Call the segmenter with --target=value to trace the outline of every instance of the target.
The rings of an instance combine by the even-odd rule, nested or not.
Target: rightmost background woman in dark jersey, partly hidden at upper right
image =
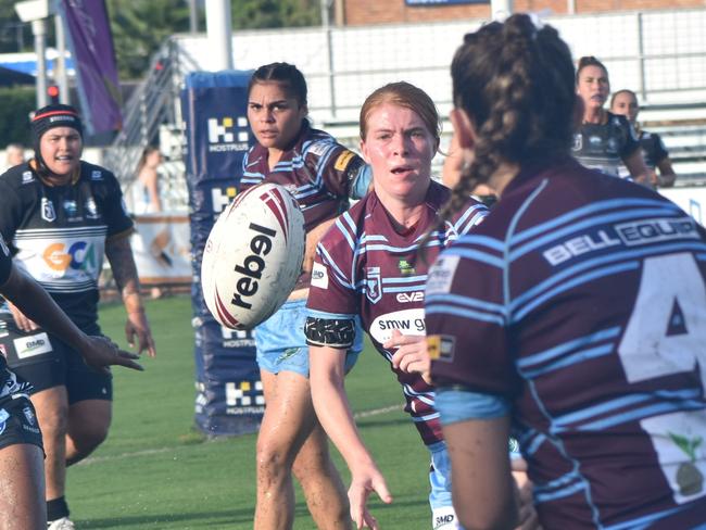
[[[647,132],[640,128],[638,114],[640,105],[638,96],[632,90],[618,90],[610,98],[610,112],[626,116],[638,134],[642,156],[647,167],[654,172],[653,184],[659,188],[670,188],[677,180],[677,175],[669,160],[669,152],[659,135]],[[659,174],[655,169],[659,169]]]

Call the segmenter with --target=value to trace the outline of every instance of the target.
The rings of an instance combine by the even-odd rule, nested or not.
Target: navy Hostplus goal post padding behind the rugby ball
[[[193,275],[196,424],[210,437],[254,432],[265,411],[252,332],[215,321],[200,282],[209,232],[238,192],[242,157],[250,147],[249,80],[250,72],[199,72],[187,76],[181,93]]]

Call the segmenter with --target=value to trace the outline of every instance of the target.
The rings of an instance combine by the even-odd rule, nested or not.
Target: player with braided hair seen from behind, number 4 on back
[[[706,522],[706,232],[654,191],[570,156],[567,45],[524,14],[468,34],[454,189],[500,195],[429,273],[426,317],[456,514],[513,528],[510,429],[543,528]]]

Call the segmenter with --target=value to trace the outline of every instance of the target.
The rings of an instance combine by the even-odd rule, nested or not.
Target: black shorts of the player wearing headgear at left
[[[85,400],[113,400],[113,378],[90,368],[84,357],[56,337],[39,328],[25,332],[12,320],[0,337],[8,365],[17,376],[34,387],[33,394],[54,387],[66,387],[68,403]],[[84,330],[100,335],[100,328]]]

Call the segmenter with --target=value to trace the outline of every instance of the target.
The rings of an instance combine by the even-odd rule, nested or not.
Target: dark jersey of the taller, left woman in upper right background
[[[605,124],[583,124],[573,135],[572,154],[581,164],[619,176],[620,164],[639,148],[638,135],[628,118],[606,112]]]

